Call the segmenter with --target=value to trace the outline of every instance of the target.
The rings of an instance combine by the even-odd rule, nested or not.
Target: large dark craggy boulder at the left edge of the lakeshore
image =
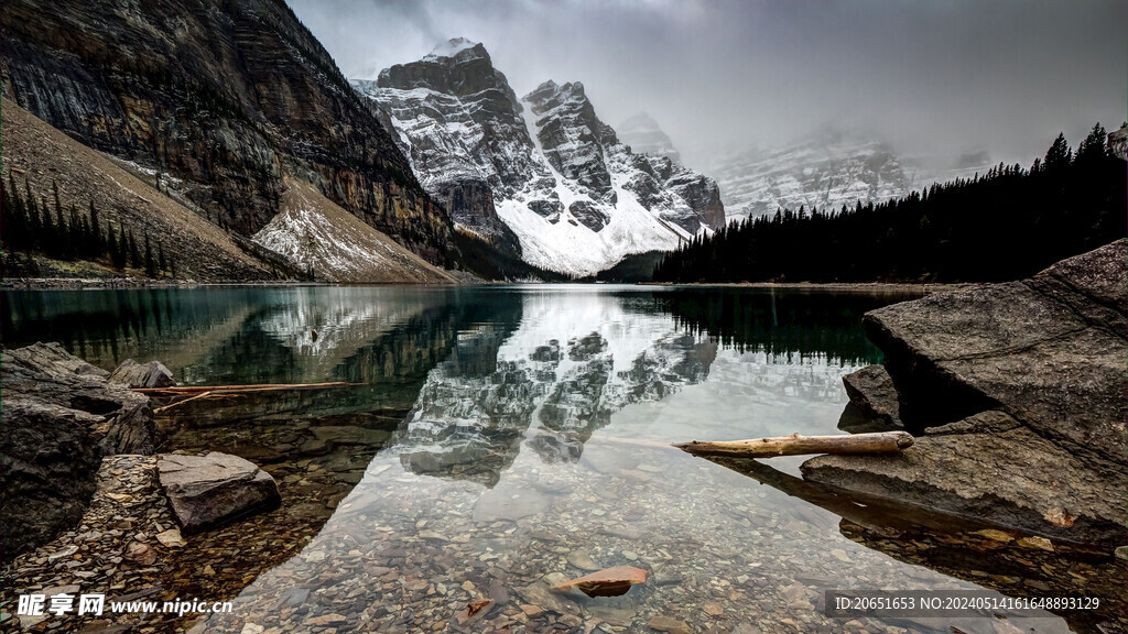
[[[0,539],[6,556],[50,541],[79,521],[103,456],[152,454],[159,443],[146,396],[58,343],[0,358]]]

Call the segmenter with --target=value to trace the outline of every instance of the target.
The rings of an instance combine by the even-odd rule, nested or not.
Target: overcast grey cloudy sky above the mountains
[[[1128,111],[1123,0],[288,0],[350,78],[485,44],[517,94],[583,81],[691,165],[834,125],[904,152],[1029,162]]]

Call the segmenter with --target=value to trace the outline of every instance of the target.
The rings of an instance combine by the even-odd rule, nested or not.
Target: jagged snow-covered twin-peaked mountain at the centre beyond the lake
[[[460,228],[536,266],[590,274],[724,222],[712,179],[619,142],[582,83],[518,99],[482,44],[451,39],[353,86]]]

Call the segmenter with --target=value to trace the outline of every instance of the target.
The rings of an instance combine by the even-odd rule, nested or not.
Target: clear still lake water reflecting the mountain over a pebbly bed
[[[902,299],[209,288],[6,292],[2,315],[6,345],[62,341],[105,368],[131,356],[201,385],[364,384],[197,402],[162,420],[166,449],[238,454],[280,481],[275,519],[227,527],[223,539],[302,534],[277,561],[221,570],[222,583],[193,578],[187,555],[169,564],[166,587],[238,593],[232,615],[202,622],[209,629],[649,632],[662,616],[698,632],[994,634],[1114,620],[1117,569],[1085,554],[828,499],[795,477],[802,458],[749,469],[668,447],[837,433],[841,376],[880,361],[861,316]],[[546,592],[614,565],[651,579],[620,598]],[[860,588],[1095,593],[1107,607],[1008,622],[822,615],[823,590]],[[457,613],[482,598],[496,604],[460,626]]]

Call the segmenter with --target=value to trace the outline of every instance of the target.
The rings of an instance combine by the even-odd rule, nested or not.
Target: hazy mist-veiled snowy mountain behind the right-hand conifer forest
[[[822,132],[776,149],[755,149],[711,167],[728,219],[756,218],[777,209],[838,210],[909,194],[936,182],[990,168],[986,153],[952,161],[899,157],[889,144],[856,133]]]

